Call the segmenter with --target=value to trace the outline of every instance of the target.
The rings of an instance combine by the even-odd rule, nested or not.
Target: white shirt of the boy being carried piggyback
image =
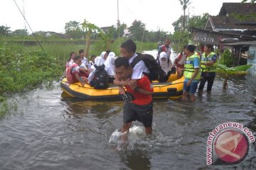
[[[129,64],[137,57],[135,53],[130,59]],[[132,69],[132,79],[142,79],[144,73],[149,73],[149,69],[146,67],[144,61],[140,60]]]

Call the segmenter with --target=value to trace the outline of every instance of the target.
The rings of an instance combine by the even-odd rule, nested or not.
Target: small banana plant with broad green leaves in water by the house
[[[227,67],[225,64],[219,64],[217,71],[225,74],[225,79],[223,82],[223,89],[228,89],[228,78],[231,74],[241,75],[246,74],[246,70],[249,69],[252,64],[240,65],[236,67]]]

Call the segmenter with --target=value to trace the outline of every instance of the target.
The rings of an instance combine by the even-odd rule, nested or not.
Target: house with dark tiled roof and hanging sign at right
[[[252,64],[256,75],[256,4],[223,3],[218,16],[209,16],[204,29],[191,28],[193,41],[230,48],[236,64]]]

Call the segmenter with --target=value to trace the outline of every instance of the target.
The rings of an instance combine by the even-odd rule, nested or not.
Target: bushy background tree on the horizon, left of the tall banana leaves
[[[68,38],[82,38],[84,32],[80,26],[81,24],[77,21],[69,21],[68,23],[65,23],[65,35],[67,35]]]

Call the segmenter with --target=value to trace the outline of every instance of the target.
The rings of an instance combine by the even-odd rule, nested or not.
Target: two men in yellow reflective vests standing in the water
[[[210,93],[217,71],[218,57],[213,52],[213,45],[204,45],[204,52],[201,55],[195,52],[195,50],[195,45],[187,45],[185,49],[186,61],[183,69],[183,75],[185,77],[183,84],[183,100],[186,100],[189,94],[191,101],[196,101],[196,90],[198,88],[199,95],[203,94],[206,81],[208,83],[206,91]]]

